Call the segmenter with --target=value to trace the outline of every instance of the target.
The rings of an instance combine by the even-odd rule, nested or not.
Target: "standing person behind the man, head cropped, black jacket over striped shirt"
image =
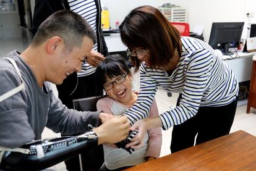
[[[58,10],[69,9],[87,20],[96,34],[96,43],[87,60],[82,63],[79,73],[71,74],[61,85],[57,85],[59,99],[69,109],[73,108],[73,99],[100,96],[103,88],[95,83],[95,69],[101,60],[108,56],[108,48],[101,30],[100,0],[36,0],[32,22],[32,33],[35,35],[40,24],[49,15]]]

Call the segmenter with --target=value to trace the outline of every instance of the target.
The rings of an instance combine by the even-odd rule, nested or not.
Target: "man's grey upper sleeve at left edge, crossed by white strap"
[[[19,86],[21,80],[14,69],[2,66],[0,68],[1,96]],[[26,112],[27,96],[25,90],[19,91],[0,102],[0,146],[17,148],[35,138],[35,134],[28,123]]]

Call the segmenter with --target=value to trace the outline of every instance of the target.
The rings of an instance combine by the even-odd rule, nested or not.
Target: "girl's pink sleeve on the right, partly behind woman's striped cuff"
[[[150,109],[149,117],[158,117],[158,108],[156,106],[156,101],[154,99],[153,104]],[[152,128],[148,130],[148,149],[145,157],[155,157],[159,158],[162,145],[162,130],[161,127]]]

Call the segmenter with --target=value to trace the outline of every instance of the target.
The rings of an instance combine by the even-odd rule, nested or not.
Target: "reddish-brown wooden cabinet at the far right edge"
[[[246,113],[250,113],[250,107],[256,108],[256,55],[252,58],[252,76],[250,78],[250,90],[247,102],[247,111]]]

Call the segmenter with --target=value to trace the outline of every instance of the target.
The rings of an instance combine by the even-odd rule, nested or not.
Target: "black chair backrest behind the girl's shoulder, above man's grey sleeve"
[[[90,98],[80,98],[80,99],[74,99],[73,105],[74,109],[77,111],[97,111],[96,104],[97,101],[101,98],[105,98],[107,95],[101,95],[101,96],[93,96]]]

